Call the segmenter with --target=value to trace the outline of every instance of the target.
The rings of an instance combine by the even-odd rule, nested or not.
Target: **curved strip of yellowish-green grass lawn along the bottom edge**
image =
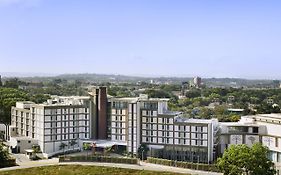
[[[62,166],[45,166],[36,168],[19,169],[12,171],[0,172],[0,175],[180,175],[177,173],[132,170],[123,168],[111,168],[100,166],[82,166],[82,165],[62,165]],[[182,174],[181,174],[182,175]]]

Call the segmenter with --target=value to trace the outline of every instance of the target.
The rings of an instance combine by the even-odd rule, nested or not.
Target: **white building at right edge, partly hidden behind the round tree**
[[[270,150],[270,159],[281,167],[281,114],[242,116],[239,122],[221,123],[220,152],[231,144],[251,146],[260,142]]]

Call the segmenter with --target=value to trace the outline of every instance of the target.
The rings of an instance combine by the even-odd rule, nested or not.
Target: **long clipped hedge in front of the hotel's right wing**
[[[213,171],[219,172],[218,168],[214,164],[202,164],[202,163],[192,163],[192,162],[183,162],[183,161],[174,161],[168,159],[159,159],[159,158],[152,158],[148,157],[148,163],[160,164],[160,165],[167,165],[167,166],[175,166],[179,168],[188,168],[194,170],[203,170],[203,171]]]

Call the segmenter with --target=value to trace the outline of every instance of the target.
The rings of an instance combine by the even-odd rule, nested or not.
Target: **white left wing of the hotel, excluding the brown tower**
[[[74,140],[74,148],[79,149],[79,140],[90,138],[89,97],[53,97],[44,104],[17,102],[11,115],[10,143],[16,152],[38,144],[49,157],[62,151],[62,143],[68,145],[66,150],[72,149],[69,143]]]

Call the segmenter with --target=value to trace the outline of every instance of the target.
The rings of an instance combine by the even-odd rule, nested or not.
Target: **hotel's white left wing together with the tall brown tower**
[[[65,150],[82,149],[82,140],[106,139],[106,110],[105,87],[85,97],[52,96],[43,104],[17,102],[11,109],[10,146],[13,152],[24,153],[39,145],[45,157],[62,152],[62,143]]]

